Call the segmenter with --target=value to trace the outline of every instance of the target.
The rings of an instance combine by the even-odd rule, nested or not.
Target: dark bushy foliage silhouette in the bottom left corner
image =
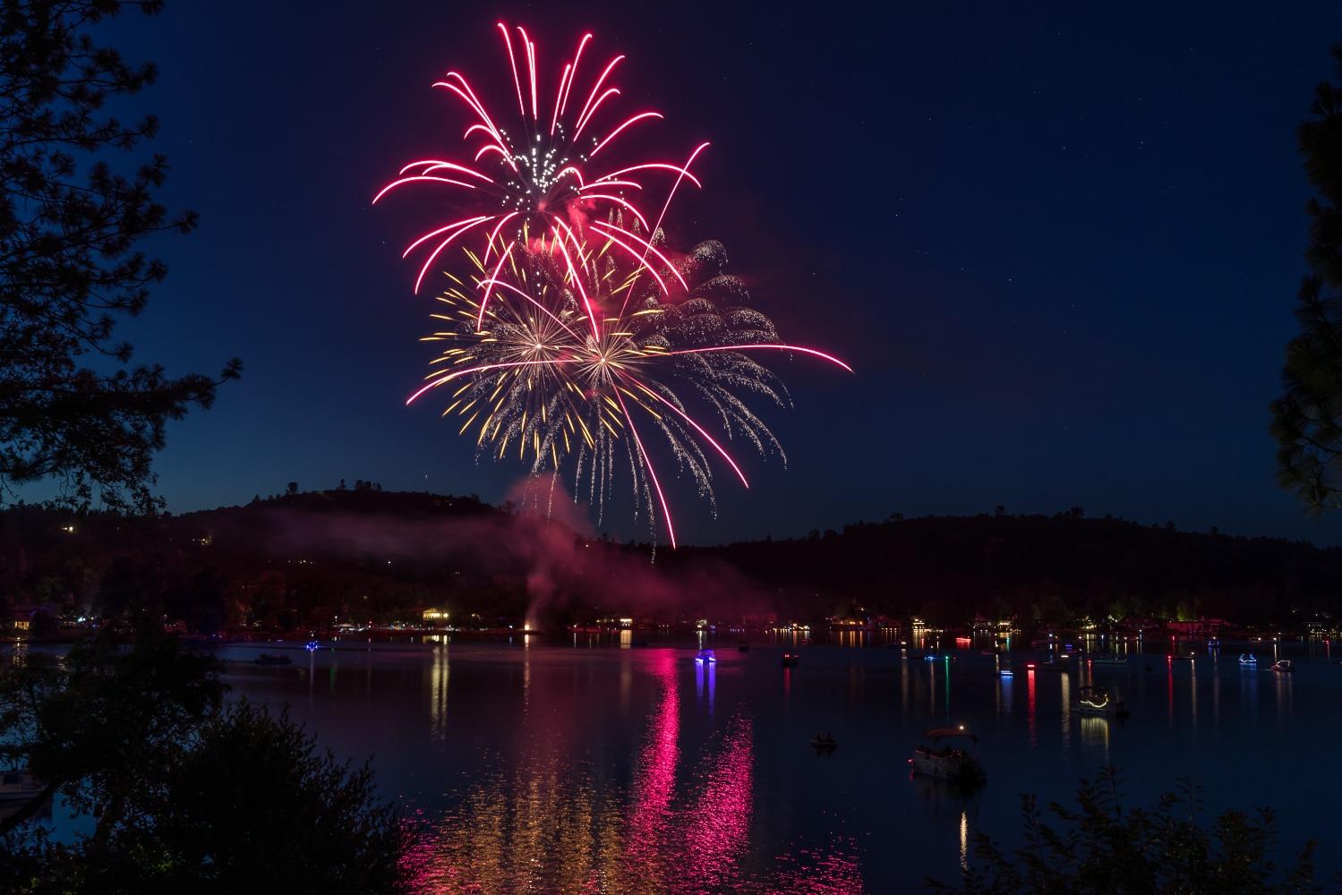
[[[409,828],[369,766],[319,753],[287,713],[225,706],[215,662],[145,621],[129,649],[121,628],[0,672],[0,762],[46,781],[0,821],[0,891],[403,891]],[[56,792],[90,835],[28,824]]]

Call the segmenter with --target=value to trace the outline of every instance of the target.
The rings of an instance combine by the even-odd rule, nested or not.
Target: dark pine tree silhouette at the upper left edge
[[[55,478],[74,506],[97,496],[153,510],[150,460],[165,423],[209,407],[242,368],[170,378],[158,365],[130,366],[132,346],[113,341],[117,319],[140,314],[166,272],[137,246],[196,225],[193,212],[169,215],[154,200],[162,156],[129,174],[109,164],[158,129],[152,115],[125,123],[103,111],[156,74],[86,32],[123,7],[156,13],[162,3],[0,5],[0,495]]]

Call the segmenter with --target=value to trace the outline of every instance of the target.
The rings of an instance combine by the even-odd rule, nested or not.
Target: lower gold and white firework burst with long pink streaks
[[[533,474],[572,474],[574,492],[585,490],[599,513],[628,466],[636,513],[654,530],[660,514],[675,546],[652,440],[713,502],[715,466],[749,486],[727,444],[743,440],[782,456],[747,401],[785,407],[786,390],[754,356],[848,366],[782,344],[769,318],[745,306],[745,284],[723,272],[719,243],[701,243],[672,263],[655,238],[646,250],[660,260],[631,263],[609,229],[592,231],[605,239],[514,240],[494,262],[466,250],[472,274],[448,274],[433,314],[440,327],[427,337],[443,350],[407,403],[446,393],[443,415],[462,420],[459,433],[474,433],[482,455],[515,452]]]

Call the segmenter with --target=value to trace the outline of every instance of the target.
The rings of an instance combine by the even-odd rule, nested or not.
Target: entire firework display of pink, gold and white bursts
[[[782,456],[747,405],[788,405],[782,382],[761,360],[809,356],[849,368],[782,344],[769,318],[745,307],[749,295],[723,272],[719,243],[670,256],[662,221],[683,181],[701,185],[690,166],[707,144],[679,165],[609,161],[621,136],[662,118],[603,114],[620,94],[611,75],[624,56],[593,66],[600,74],[582,98],[574,85],[586,74],[592,35],[584,35],[546,98],[534,42],[522,28],[515,36],[498,28],[521,117],[517,136],[494,123],[463,75],[448,72],[433,86],[472,115],[463,134],[467,152],[474,148],[470,164],[413,161],[373,199],[409,185],[455,191],[447,193],[454,220],[403,254],[425,254],[416,293],[450,248],[464,259],[444,271],[448,286],[432,315],[437,331],[425,338],[443,352],[407,404],[442,396],[443,416],[459,419],[459,433],[474,436],[482,455],[514,455],[533,475],[572,471],[576,495],[585,491],[599,513],[627,466],[635,513],[646,513],[654,534],[660,515],[674,547],[654,441],[713,503],[714,467],[749,487],[727,444],[746,440]],[[667,178],[664,195],[643,205],[654,176]],[[652,220],[646,208],[658,208]]]

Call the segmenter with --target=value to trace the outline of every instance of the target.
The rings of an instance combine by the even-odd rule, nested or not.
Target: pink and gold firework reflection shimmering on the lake
[[[659,651],[660,652],[660,651]],[[851,841],[747,860],[756,804],[754,722],[734,713],[703,747],[680,745],[678,667],[655,687],[628,788],[539,735],[431,824],[407,863],[420,892],[860,892]],[[695,674],[711,694],[710,666]],[[641,678],[640,683],[647,678]],[[711,703],[711,695],[709,695]],[[968,823],[968,821],[966,821]],[[968,829],[968,828],[966,828]],[[968,833],[966,833],[968,835]]]

